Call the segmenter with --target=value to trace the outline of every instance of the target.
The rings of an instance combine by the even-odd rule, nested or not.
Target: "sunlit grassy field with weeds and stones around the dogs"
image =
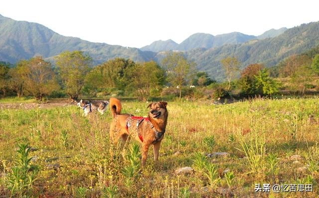
[[[123,113],[146,116],[146,107],[123,102]],[[2,109],[0,195],[318,197],[317,98],[226,105],[168,102],[167,108],[159,163],[154,164],[150,149],[145,168],[134,141],[110,156],[109,111],[85,118],[75,105]],[[227,155],[207,156],[213,152]],[[194,170],[177,175],[182,167]],[[255,184],[313,184],[313,192],[255,193]]]

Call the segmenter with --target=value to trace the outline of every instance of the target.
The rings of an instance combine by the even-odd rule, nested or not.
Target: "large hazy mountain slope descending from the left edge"
[[[65,50],[87,52],[95,63],[115,57],[148,61],[155,55],[153,52],[143,52],[138,48],[94,43],[80,38],[62,36],[41,24],[16,21],[0,15],[0,60],[15,63],[35,55],[52,57]]]

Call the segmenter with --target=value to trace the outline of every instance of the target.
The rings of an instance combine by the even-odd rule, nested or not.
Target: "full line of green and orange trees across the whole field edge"
[[[2,96],[15,93],[17,97],[32,95],[42,100],[62,93],[77,100],[81,93],[90,97],[116,94],[147,101],[163,93],[165,87],[166,92],[170,87],[179,98],[196,91],[202,95],[208,88],[216,98],[227,97],[235,89],[241,96],[273,95],[282,87],[276,78],[285,77],[289,77],[293,85],[301,86],[304,93],[311,79],[319,75],[316,51],[292,55],[276,67],[265,68],[256,63],[242,70],[243,65],[236,57],[225,57],[220,61],[227,79],[225,83],[217,83],[207,73],[197,71],[196,64],[181,52],[168,53],[161,65],[155,61],[137,63],[115,58],[93,67],[92,58],[82,51],[65,51],[54,60],[54,66],[40,56],[21,60],[15,66],[0,62]],[[202,90],[191,89],[195,86]]]

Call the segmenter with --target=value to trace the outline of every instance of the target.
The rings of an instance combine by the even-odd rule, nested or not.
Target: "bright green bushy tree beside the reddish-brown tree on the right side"
[[[269,77],[266,69],[259,71],[255,78],[257,80],[257,88],[262,88],[264,94],[272,95],[278,93],[280,84]]]

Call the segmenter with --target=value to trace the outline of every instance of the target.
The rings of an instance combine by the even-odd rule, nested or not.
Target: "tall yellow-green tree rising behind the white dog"
[[[64,88],[72,100],[77,100],[91,64],[92,58],[83,51],[65,51],[56,57]]]

